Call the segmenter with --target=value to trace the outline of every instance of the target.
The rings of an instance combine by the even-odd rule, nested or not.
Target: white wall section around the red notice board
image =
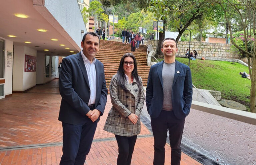
[[[24,71],[25,54],[36,56],[36,50],[26,46],[14,45],[13,54],[13,91],[25,91],[36,85],[36,72]]]

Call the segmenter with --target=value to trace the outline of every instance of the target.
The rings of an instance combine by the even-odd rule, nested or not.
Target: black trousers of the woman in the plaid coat
[[[117,165],[130,165],[137,135],[131,137],[115,135],[115,137],[119,152],[117,157]]]

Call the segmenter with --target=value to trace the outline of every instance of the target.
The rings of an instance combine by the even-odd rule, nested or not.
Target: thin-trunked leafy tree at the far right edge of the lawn
[[[218,3],[225,13],[225,19],[228,23],[230,41],[248,58],[248,70],[251,77],[250,90],[250,111],[256,113],[256,1],[255,0],[214,0]],[[243,31],[244,44],[235,42],[233,36],[231,21],[233,20],[232,12],[236,12],[239,16],[237,20]],[[250,43],[250,45],[249,45]],[[251,62],[250,62],[251,58]],[[251,66],[251,68],[250,68]]]

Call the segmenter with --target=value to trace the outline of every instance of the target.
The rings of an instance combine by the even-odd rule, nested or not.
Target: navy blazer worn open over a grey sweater
[[[192,102],[192,80],[190,68],[176,61],[172,85],[172,107],[176,118],[183,119],[189,112]],[[157,118],[163,107],[163,61],[151,66],[146,89],[146,105],[151,118]]]

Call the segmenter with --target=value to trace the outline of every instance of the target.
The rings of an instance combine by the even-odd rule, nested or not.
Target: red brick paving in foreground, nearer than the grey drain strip
[[[153,162],[153,137],[138,138],[132,157],[132,165],[149,165]],[[170,164],[171,149],[165,146],[165,165]],[[1,165],[57,165],[62,155],[62,146],[13,150],[0,152]],[[94,142],[86,158],[86,165],[116,165],[118,155],[115,140]],[[181,165],[201,165],[186,154],[181,155]]]

